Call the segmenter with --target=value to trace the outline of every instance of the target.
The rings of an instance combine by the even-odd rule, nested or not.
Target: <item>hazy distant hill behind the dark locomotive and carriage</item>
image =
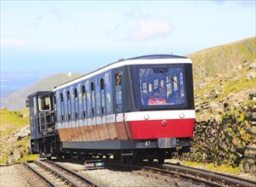
[[[64,82],[69,82],[81,76],[82,74],[80,73],[75,73],[71,76],[68,76],[65,73],[60,73],[40,79],[39,81],[32,83],[30,86],[27,86],[26,88],[21,88],[13,94],[9,94],[9,96],[3,99],[3,108],[7,108],[10,111],[20,110],[26,107],[25,100],[28,94],[37,91],[53,90],[55,86],[63,84]]]

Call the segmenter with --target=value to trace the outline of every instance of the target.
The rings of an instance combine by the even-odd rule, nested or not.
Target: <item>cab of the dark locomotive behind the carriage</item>
[[[54,92],[43,91],[28,95],[26,107],[29,107],[30,113],[31,139],[55,132]]]

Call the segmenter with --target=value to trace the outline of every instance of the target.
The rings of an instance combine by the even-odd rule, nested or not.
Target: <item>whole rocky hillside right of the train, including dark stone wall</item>
[[[190,54],[196,126],[189,161],[256,175],[255,37]]]

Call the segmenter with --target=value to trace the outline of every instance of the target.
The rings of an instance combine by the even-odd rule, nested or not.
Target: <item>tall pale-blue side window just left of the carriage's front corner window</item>
[[[112,106],[112,99],[111,99],[111,76],[110,73],[105,74],[105,113],[111,114],[111,106]]]

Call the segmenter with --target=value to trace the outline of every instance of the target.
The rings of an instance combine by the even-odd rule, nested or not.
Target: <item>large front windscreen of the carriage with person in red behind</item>
[[[185,103],[184,71],[180,67],[139,70],[141,105]]]

